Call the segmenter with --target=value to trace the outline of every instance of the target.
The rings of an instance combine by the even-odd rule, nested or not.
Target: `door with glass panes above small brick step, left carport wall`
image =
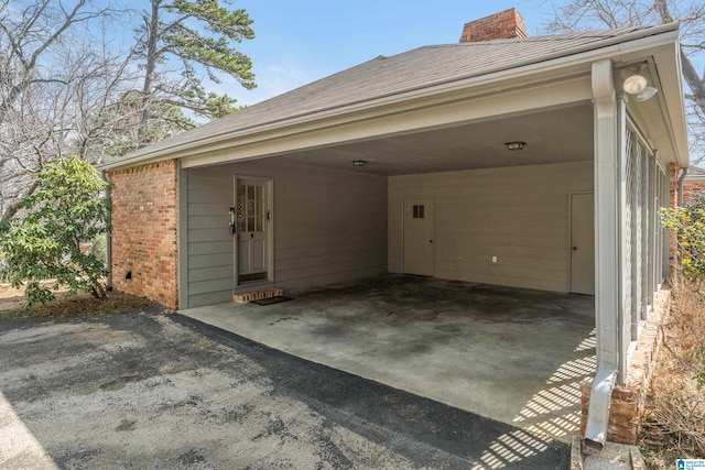
[[[235,178],[236,285],[269,278],[269,185],[265,179]]]

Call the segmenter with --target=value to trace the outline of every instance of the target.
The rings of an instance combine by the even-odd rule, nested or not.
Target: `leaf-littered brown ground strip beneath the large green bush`
[[[20,306],[18,304],[22,302]],[[99,300],[87,294],[79,294],[75,297],[62,297],[46,304],[37,304],[26,307],[23,298],[6,298],[2,303],[7,308],[0,308],[0,318],[59,318],[59,317],[86,317],[91,315],[122,314],[128,311],[142,311],[153,306],[154,303],[133,295],[121,294],[117,292],[108,293],[108,298]]]

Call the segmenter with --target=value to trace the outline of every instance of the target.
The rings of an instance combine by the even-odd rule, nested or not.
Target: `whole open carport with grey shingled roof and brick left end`
[[[234,293],[301,293],[267,307],[281,313],[272,325],[250,328],[248,336],[265,343],[292,325],[288,309],[310,298],[306,289],[332,283],[399,274],[470,283],[469,292],[503,286],[492,287],[490,304],[507,308],[518,292],[541,292],[528,295],[523,307],[545,305],[532,317],[540,321],[522,324],[488,307],[456,339],[445,338],[455,345],[447,347],[438,331],[449,331],[435,328],[445,327],[437,316],[425,323],[436,334],[427,338],[411,328],[421,323],[409,319],[404,334],[417,340],[400,337],[387,346],[447,347],[449,354],[474,347],[478,325],[511,330],[510,340],[491,341],[487,329],[475,338],[487,340],[481,352],[451,362],[445,373],[457,375],[455,390],[436,387],[426,375],[427,391],[419,393],[465,400],[470,404],[463,406],[528,427],[542,423],[542,433],[564,437],[576,424],[543,415],[551,414],[546,404],[563,403],[561,393],[577,405],[575,384],[556,378],[566,370],[592,373],[589,356],[581,354],[592,354],[595,327],[588,437],[604,442],[612,389],[628,385],[630,354],[668,274],[668,237],[657,211],[669,205],[669,174],[687,165],[677,36],[677,25],[629,28],[379,56],[127,155],[105,167],[113,184],[115,286],[188,311]],[[641,99],[627,91],[632,77],[658,94]],[[541,296],[550,299],[540,303]],[[581,315],[547,308],[570,298],[585,304]],[[361,302],[348,300],[339,303],[343,317],[355,316]],[[484,305],[481,296],[473,300]],[[458,305],[475,311],[473,302]],[[254,317],[249,311],[264,311],[208,308],[246,324]],[[487,320],[490,313],[502,321]],[[530,324],[544,331],[530,332]],[[564,328],[555,331],[555,324]],[[325,328],[318,332],[292,342],[315,349],[312,343],[329,338]],[[508,348],[511,341],[518,349]],[[552,342],[561,346],[545,348]],[[338,348],[323,349],[344,351]],[[347,351],[336,360],[368,368],[373,361],[346,358],[365,353],[375,357]],[[482,358],[485,378],[465,382],[463,362],[479,365]],[[525,395],[496,400],[519,389],[510,385],[517,380],[501,382],[505,367],[512,371],[506,376],[531,383]],[[471,404],[470,391],[489,400]]]

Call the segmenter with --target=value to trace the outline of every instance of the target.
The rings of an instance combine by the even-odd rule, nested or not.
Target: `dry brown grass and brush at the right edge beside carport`
[[[705,458],[705,292],[674,283],[639,447],[649,468]]]

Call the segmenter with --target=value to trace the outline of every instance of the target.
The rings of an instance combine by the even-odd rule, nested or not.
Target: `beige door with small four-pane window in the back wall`
[[[435,274],[434,200],[405,198],[403,204],[403,272],[433,276]]]

